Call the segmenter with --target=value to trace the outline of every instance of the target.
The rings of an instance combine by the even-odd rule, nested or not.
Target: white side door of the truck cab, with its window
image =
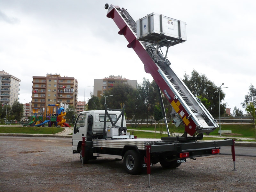
[[[87,113],[79,114],[76,118],[76,123],[74,124],[74,132],[72,136],[73,140],[73,152],[80,151],[80,145],[82,141],[82,137],[85,137],[87,139]],[[80,142],[80,143],[79,143]]]

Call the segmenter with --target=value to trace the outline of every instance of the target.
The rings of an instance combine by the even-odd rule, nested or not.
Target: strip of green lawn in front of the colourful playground
[[[0,133],[55,134],[62,131],[62,127],[0,127]]]

